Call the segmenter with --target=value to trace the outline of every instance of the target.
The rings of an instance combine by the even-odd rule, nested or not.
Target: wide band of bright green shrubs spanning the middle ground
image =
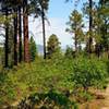
[[[107,60],[86,58],[53,58],[22,63],[11,70],[0,73],[0,102],[14,102],[33,93],[47,94],[53,89],[58,94],[76,92],[80,97],[89,99],[87,92],[82,94],[78,88],[87,89],[90,86],[102,87],[109,78]],[[3,92],[2,92],[3,90]]]

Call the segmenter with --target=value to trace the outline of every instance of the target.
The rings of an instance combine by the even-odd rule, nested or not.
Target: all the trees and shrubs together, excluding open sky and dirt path
[[[108,0],[72,11],[66,32],[74,47],[65,52],[56,34],[46,40],[48,5],[49,0],[0,0],[0,109],[77,109],[109,83]],[[28,36],[29,15],[41,17],[44,57]]]

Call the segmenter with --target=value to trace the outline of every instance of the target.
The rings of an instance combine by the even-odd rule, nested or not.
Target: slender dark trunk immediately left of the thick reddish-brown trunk
[[[22,62],[22,15],[21,7],[19,7],[19,62]]]

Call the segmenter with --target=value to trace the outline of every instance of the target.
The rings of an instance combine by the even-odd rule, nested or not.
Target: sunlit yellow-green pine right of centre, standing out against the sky
[[[82,31],[83,25],[83,20],[82,20],[82,14],[78,13],[76,10],[74,10],[71,15],[70,15],[70,21],[68,22],[68,25],[70,26],[66,28],[66,32],[70,34],[74,35],[74,47],[75,47],[75,52],[78,51],[78,46],[84,39],[84,34]]]

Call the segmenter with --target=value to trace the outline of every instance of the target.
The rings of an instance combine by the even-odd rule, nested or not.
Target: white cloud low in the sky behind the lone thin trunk
[[[33,21],[32,17],[29,21]],[[60,17],[50,17],[49,22],[50,25],[46,22],[46,39],[48,40],[51,34],[56,34],[62,46],[72,45],[72,36],[65,32],[66,21]],[[43,45],[41,21],[39,19],[29,23],[29,31],[34,34],[36,43]]]

